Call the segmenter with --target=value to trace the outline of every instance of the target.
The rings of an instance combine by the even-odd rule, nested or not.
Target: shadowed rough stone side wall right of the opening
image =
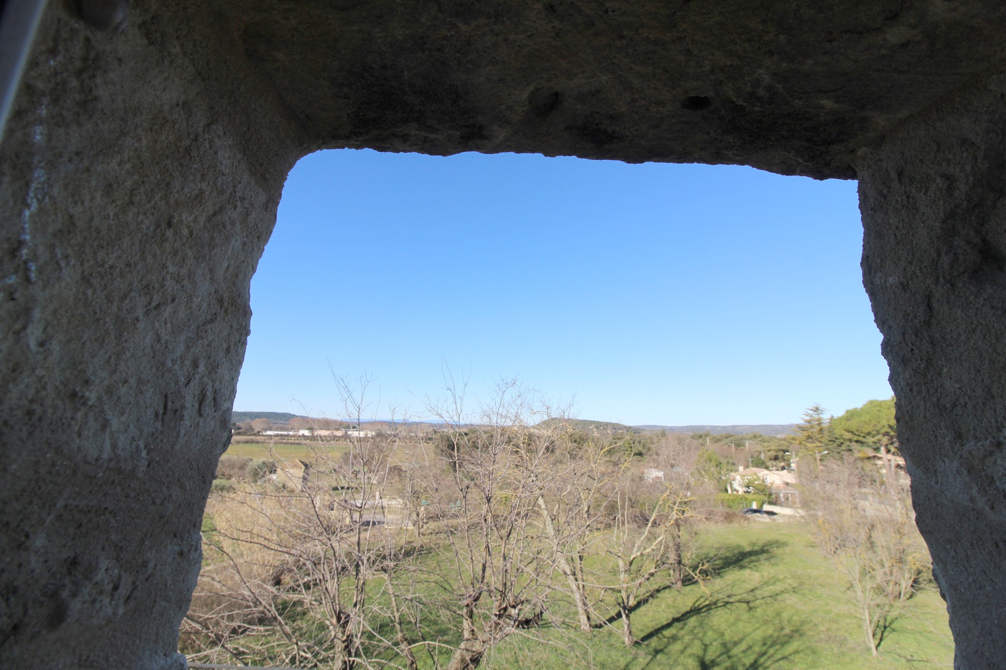
[[[863,156],[859,175],[863,282],[956,667],[1002,667],[1006,74],[913,118]]]

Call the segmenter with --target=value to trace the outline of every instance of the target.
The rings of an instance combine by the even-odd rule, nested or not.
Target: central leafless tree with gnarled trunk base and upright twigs
[[[551,551],[536,521],[554,441],[551,431],[535,429],[547,413],[516,382],[499,383],[474,421],[463,387],[449,384],[448,396],[430,408],[445,426],[450,472],[435,498],[437,546],[450,566],[441,606],[462,633],[448,668],[465,670],[509,636],[534,636],[543,624]]]

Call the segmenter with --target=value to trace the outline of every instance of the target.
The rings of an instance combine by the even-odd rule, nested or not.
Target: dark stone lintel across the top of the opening
[[[853,178],[1006,57],[1006,3],[244,0],[231,33],[324,147]]]

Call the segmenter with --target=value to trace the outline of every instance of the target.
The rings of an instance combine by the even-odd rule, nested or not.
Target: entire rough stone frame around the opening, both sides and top
[[[991,667],[1006,4],[88,2],[125,0],[50,0],[0,145],[0,665],[184,664],[248,282],[294,162],[355,147],[861,170],[919,524]]]

